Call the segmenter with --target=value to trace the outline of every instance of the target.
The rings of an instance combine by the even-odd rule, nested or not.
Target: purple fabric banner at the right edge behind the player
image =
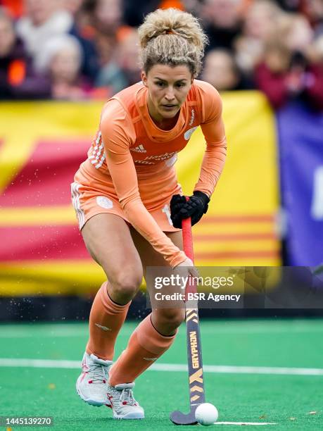
[[[286,263],[315,266],[323,261],[323,215],[312,214],[315,170],[323,168],[323,113],[289,104],[277,113],[277,127],[281,199],[288,221]]]

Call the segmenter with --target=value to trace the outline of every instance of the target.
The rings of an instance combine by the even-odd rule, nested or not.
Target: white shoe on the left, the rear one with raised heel
[[[108,372],[112,361],[84,353],[82,373],[76,382],[77,394],[91,406],[110,404],[107,398]]]

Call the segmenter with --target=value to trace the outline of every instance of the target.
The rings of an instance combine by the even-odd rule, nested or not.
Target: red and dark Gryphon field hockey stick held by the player
[[[191,218],[182,220],[182,235],[184,243],[184,252],[188,258],[194,262],[193,254],[193,237],[191,230]],[[203,365],[202,365],[202,349],[200,324],[198,320],[198,308],[188,308],[187,295],[188,293],[196,293],[196,284],[186,283],[186,301],[185,301],[185,316],[186,316],[186,344],[187,344],[187,362],[189,366],[189,404],[190,411],[185,414],[181,411],[173,411],[170,413],[170,420],[176,425],[195,425],[195,411],[199,404],[205,402],[204,384],[203,384]]]

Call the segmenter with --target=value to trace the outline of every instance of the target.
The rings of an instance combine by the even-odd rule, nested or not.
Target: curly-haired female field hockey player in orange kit
[[[113,363],[115,339],[147,266],[194,273],[182,251],[182,219],[191,216],[194,224],[207,211],[226,154],[220,96],[195,79],[206,42],[198,20],[158,10],[146,16],[139,38],[142,82],[103,107],[99,132],[72,183],[84,242],[107,277],[91,308],[77,392],[88,404],[110,406],[118,419],[144,418],[134,380],[170,348],[184,310],[153,309]],[[205,155],[186,202],[174,163],[199,125]]]

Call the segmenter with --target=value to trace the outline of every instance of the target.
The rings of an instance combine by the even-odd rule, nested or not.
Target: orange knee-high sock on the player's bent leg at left
[[[118,305],[110,299],[106,290],[108,282],[103,283],[94,298],[89,317],[89,342],[87,353],[101,359],[113,360],[115,339],[125,322],[131,301]]]

